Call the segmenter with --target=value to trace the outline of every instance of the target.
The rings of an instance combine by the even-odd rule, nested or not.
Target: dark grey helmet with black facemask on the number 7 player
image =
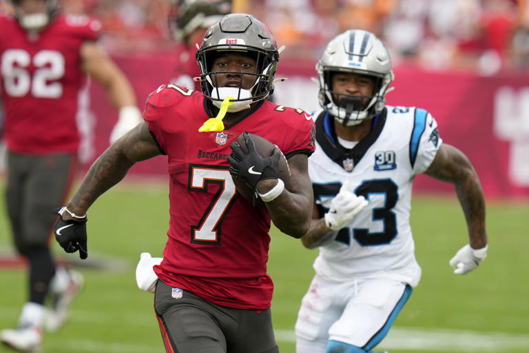
[[[233,102],[253,103],[267,98],[273,92],[273,77],[279,61],[276,39],[261,21],[251,14],[239,13],[227,14],[211,26],[196,52],[196,61],[200,68],[200,88],[205,97],[214,103],[222,101],[222,93],[214,85],[215,75],[221,72],[211,72],[211,66],[219,53],[230,51],[249,55],[256,59],[257,63],[256,72],[238,72],[241,77],[252,75],[256,81],[249,90],[237,88]]]

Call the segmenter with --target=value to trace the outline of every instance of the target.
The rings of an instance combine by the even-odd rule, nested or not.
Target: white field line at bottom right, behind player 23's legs
[[[276,341],[295,342],[295,334],[291,330],[276,330]],[[508,352],[525,349],[525,352],[529,352],[529,335],[393,327],[377,349],[437,352]]]

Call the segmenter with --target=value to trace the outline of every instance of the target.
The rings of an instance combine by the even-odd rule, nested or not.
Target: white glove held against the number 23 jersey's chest
[[[364,196],[357,196],[350,192],[349,180],[340,188],[338,195],[331,201],[331,208],[325,214],[325,224],[331,230],[340,230],[344,225],[351,222],[353,218],[368,204]]]

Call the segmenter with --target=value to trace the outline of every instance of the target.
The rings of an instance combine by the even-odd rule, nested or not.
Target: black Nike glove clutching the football
[[[253,190],[256,189],[257,182],[264,179],[278,179],[278,165],[281,157],[279,148],[274,148],[270,157],[262,158],[256,146],[251,141],[248,132],[242,132],[245,139],[248,153],[245,153],[237,141],[229,145],[231,154],[228,156],[229,173],[233,177],[238,177],[247,183]]]

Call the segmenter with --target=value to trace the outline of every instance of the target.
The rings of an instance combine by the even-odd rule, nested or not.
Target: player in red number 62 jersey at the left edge
[[[41,325],[65,321],[81,285],[75,272],[56,268],[50,253],[51,208],[65,201],[77,168],[79,93],[87,74],[119,110],[117,139],[141,121],[132,86],[98,47],[100,23],[61,14],[52,0],[12,1],[14,17],[0,15],[0,85],[7,146],[8,215],[17,251],[28,259],[29,296],[17,330],[3,343],[21,351],[41,345]],[[45,318],[45,297],[54,296]]]

